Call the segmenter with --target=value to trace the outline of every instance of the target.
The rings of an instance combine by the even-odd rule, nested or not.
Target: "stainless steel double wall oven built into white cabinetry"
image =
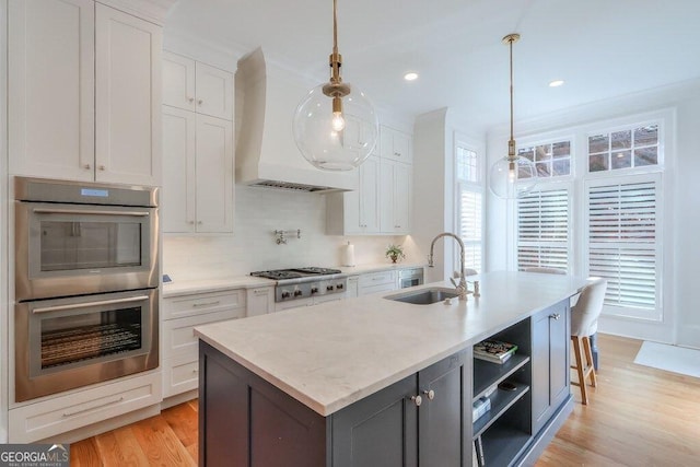
[[[158,188],[15,177],[15,401],[159,364]]]

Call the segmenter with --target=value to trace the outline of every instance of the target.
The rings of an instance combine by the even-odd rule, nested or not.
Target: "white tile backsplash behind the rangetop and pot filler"
[[[301,230],[278,245],[276,230]],[[233,235],[164,234],[163,272],[174,280],[245,276],[250,271],[300,266],[337,267],[342,247],[354,245],[355,262],[388,261],[389,243],[406,245],[407,260],[419,253],[409,236],[326,235],[326,198],[323,195],[236,186]]]

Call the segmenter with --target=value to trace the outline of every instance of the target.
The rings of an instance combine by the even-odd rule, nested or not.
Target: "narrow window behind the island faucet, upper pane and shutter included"
[[[482,269],[483,188],[480,184],[480,164],[477,153],[457,143],[455,168],[457,174],[457,230],[465,246],[465,267],[480,272]]]

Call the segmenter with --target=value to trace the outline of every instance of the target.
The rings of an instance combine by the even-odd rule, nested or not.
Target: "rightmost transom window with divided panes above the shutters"
[[[588,172],[658,164],[658,124],[588,136]]]

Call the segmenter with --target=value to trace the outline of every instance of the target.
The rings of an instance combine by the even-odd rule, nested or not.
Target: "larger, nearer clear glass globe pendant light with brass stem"
[[[369,157],[376,144],[380,121],[366,95],[343,83],[338,52],[337,0],[332,2],[330,81],[308,92],[296,107],[293,129],[296,147],[314,166],[351,171]]]

